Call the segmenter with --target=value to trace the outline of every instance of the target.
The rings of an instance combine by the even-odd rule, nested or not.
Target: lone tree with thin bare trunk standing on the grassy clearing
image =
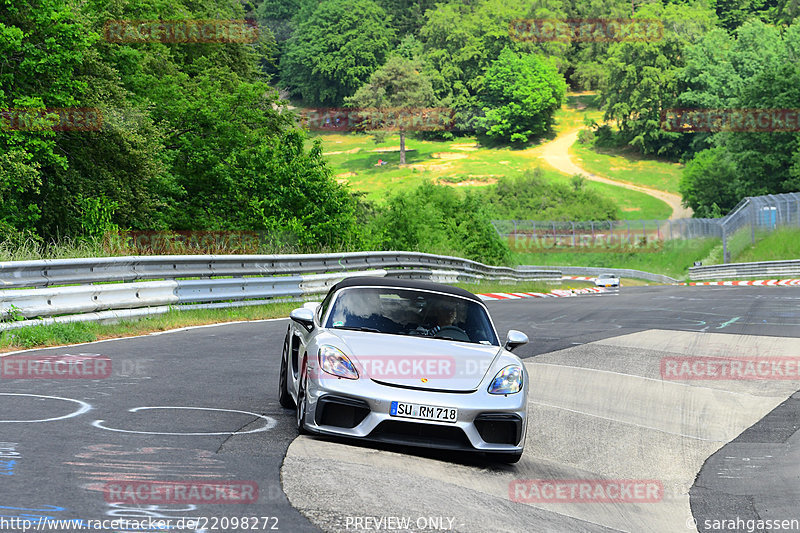
[[[433,105],[434,96],[431,82],[417,62],[399,56],[392,56],[384,66],[372,73],[369,81],[361,86],[355,95],[346,99],[347,104],[358,108],[406,109],[409,113],[419,113],[420,108]],[[406,164],[406,133],[401,126],[400,164]]]

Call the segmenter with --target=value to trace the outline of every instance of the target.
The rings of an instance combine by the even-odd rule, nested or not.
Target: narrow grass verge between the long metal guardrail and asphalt
[[[577,289],[591,286],[581,281],[565,281],[563,284],[545,282],[524,282],[506,284],[499,282],[457,283],[474,293],[487,292],[549,292],[553,289]],[[322,295],[319,296],[322,299]],[[172,310],[163,315],[154,315],[141,319],[122,320],[115,324],[99,324],[96,322],[75,322],[69,324],[49,324],[46,326],[30,326],[0,332],[0,353],[30,348],[46,348],[63,346],[104,339],[116,339],[145,335],[158,331],[202,326],[242,320],[264,320],[269,318],[285,318],[289,312],[299,307],[298,302],[276,302],[267,305],[234,307],[230,309],[192,309]]]

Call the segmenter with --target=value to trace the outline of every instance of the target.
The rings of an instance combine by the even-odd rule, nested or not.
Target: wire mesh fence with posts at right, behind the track
[[[518,252],[658,252],[664,243],[722,239],[723,261],[780,227],[800,227],[800,193],[747,197],[722,218],[676,220],[493,220]]]

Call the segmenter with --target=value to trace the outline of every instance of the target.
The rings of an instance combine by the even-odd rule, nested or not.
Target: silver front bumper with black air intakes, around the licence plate
[[[527,381],[527,380],[526,380]],[[309,379],[306,428],[315,433],[377,442],[481,452],[522,452],[527,430],[527,383],[507,396],[433,392],[369,379]],[[400,418],[393,401],[458,409],[454,423]]]

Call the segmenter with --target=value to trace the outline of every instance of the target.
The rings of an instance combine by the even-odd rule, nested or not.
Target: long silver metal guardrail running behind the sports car
[[[377,265],[393,268],[374,268]],[[276,298],[324,294],[331,285],[355,275],[445,283],[561,279],[561,272],[553,269],[494,267],[457,257],[414,252],[5,262],[0,263],[0,283],[6,287],[0,290],[0,318],[26,320],[0,323],[0,330],[51,322],[142,316],[166,312],[176,306],[192,307],[185,304],[218,302],[215,305],[222,307],[242,305],[242,301],[268,303]],[[154,278],[160,280],[137,281]],[[63,286],[66,283],[80,284]]]

